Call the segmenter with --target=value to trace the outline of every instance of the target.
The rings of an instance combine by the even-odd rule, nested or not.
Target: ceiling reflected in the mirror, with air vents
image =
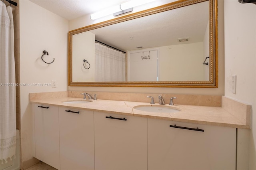
[[[123,51],[203,42],[208,1],[90,30],[96,40]],[[188,42],[178,39],[188,38]]]

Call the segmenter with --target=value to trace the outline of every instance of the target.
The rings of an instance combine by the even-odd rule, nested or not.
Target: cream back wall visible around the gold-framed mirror
[[[167,4],[174,0],[156,1],[156,6]],[[151,8],[153,6],[150,6]],[[147,6],[144,6],[144,10]],[[141,8],[142,9],[142,8]],[[134,12],[138,11],[134,8]],[[106,18],[104,18],[106,19]],[[109,18],[108,18],[109,19]],[[86,15],[75,20],[69,21],[69,30],[75,30],[84,26],[89,26],[103,20],[90,20],[90,16]],[[129,93],[180,93],[180,94],[197,94],[197,95],[224,95],[224,31],[223,31],[223,1],[218,1],[218,88],[159,88],[159,87],[73,87],[68,86],[70,91],[104,91],[104,92],[129,92]]]

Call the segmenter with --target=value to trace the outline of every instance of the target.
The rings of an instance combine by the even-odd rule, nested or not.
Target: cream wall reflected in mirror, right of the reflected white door
[[[203,42],[159,47],[159,81],[204,80],[203,51]]]

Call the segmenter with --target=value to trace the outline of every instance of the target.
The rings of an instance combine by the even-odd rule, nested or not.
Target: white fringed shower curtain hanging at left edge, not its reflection
[[[0,163],[16,150],[16,92],[12,7],[0,2]]]

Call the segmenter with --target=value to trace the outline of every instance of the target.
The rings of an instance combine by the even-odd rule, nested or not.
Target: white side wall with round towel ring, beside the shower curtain
[[[22,162],[33,155],[32,112],[29,93],[67,90],[67,44],[68,21],[37,6],[28,0],[20,0],[20,83],[51,83],[57,81],[57,88],[48,86],[21,86],[21,143]],[[42,51],[49,55],[42,61]],[[49,62],[48,61],[48,62]]]

